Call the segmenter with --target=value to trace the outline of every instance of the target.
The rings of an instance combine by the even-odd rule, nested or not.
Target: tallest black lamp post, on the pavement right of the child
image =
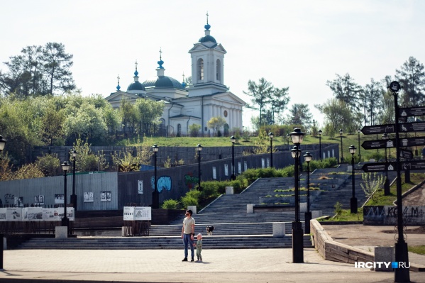
[[[301,156],[301,150],[299,145],[302,143],[304,133],[299,128],[294,128],[294,131],[290,133],[294,148],[291,153],[294,157],[294,191],[295,191],[295,221],[292,222],[292,262],[299,263],[304,262],[304,243],[303,243],[303,231],[302,225],[299,221],[299,157]]]

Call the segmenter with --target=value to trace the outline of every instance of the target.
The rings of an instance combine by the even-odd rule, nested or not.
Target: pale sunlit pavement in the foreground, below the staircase
[[[304,250],[203,250],[204,262],[182,262],[183,250],[6,250],[0,282],[392,282],[393,272],[355,269]],[[410,272],[425,282],[423,272]]]

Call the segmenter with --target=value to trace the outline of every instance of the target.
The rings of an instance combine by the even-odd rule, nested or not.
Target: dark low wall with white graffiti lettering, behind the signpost
[[[425,224],[425,206],[404,206],[403,219],[411,225]],[[397,206],[364,206],[365,224],[393,225],[397,223]]]

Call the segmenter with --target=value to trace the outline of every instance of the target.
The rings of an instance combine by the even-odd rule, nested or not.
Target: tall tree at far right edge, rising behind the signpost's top
[[[402,67],[395,72],[396,79],[398,79],[403,86],[401,104],[405,107],[423,105],[425,102],[424,65],[411,56],[403,63]]]

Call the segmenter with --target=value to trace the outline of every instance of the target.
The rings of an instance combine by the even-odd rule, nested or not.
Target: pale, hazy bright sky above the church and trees
[[[227,50],[224,84],[246,102],[248,80],[265,77],[289,87],[290,102],[314,108],[332,98],[326,81],[351,74],[364,86],[394,76],[409,56],[425,63],[425,1],[2,1],[0,62],[28,45],[59,42],[74,55],[72,73],[84,95],[108,96],[156,75],[162,48],[165,75],[191,72],[188,53],[204,35]],[[6,66],[0,65],[5,71]],[[244,126],[250,116],[244,113]]]

